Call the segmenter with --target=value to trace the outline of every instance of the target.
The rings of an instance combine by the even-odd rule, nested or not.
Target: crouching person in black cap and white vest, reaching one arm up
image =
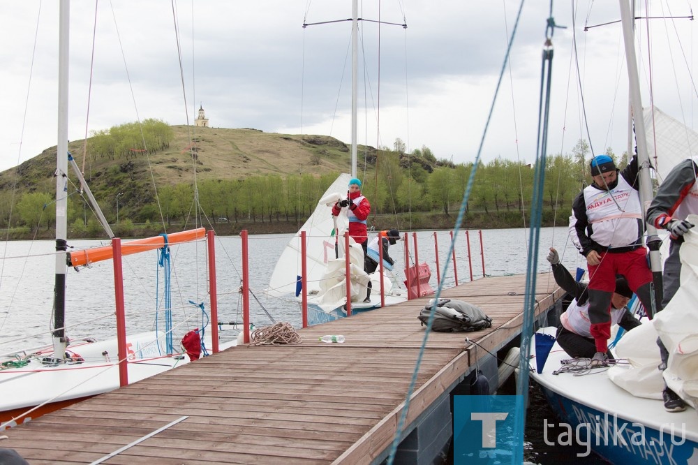
[[[560,347],[574,358],[592,358],[596,353],[596,344],[591,335],[591,321],[589,321],[589,298],[586,292],[586,284],[574,281],[572,274],[560,263],[558,251],[550,248],[547,260],[553,267],[553,276],[558,286],[574,296],[570,306],[560,316],[560,326],[556,339]],[[624,330],[641,325],[639,320],[625,307],[632,297],[632,290],[628,287],[628,281],[619,276],[616,278],[616,290],[611,296],[611,324],[618,324]],[[607,352],[607,357],[611,357]]]

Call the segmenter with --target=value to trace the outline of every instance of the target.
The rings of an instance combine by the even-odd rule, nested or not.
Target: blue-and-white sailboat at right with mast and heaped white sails
[[[619,3],[632,108],[639,109],[641,99],[630,8],[625,0]],[[640,163],[648,161],[648,135],[653,142],[651,147],[657,148],[658,153],[670,147],[666,153],[680,154],[682,159],[695,155],[698,134],[678,121],[655,108],[644,112],[636,110],[634,120]],[[660,155],[663,156],[664,152]],[[662,163],[657,163],[660,182],[674,163],[667,162],[666,157],[662,158]],[[642,171],[646,177],[640,179],[640,195],[646,200],[651,195],[651,184],[646,173],[648,170]],[[689,221],[697,220],[698,216],[689,216]],[[650,237],[656,234],[654,228],[648,227]],[[532,371],[531,376],[562,420],[559,426],[567,431],[577,431],[579,443],[613,464],[698,462],[698,415],[695,412],[698,406],[698,372],[695,369],[698,355],[695,344],[697,247],[697,235],[685,235],[681,247],[681,288],[654,321],[643,318],[643,325],[618,339],[614,347],[616,364],[610,368],[589,369],[585,359],[573,360],[558,344],[552,347],[549,355],[536,354],[531,364],[534,367],[537,363],[540,367],[538,372]],[[656,249],[651,248],[650,252],[653,272],[658,271],[656,265],[661,265]],[[667,383],[671,381],[670,387],[692,407],[683,412],[669,413],[662,403],[664,381],[658,370],[661,360],[655,327],[676,341],[676,351],[669,357],[670,368],[664,371],[663,378]],[[540,332],[554,334],[554,328]]]

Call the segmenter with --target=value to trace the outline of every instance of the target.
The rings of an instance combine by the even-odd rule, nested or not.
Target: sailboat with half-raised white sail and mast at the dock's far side
[[[357,177],[357,70],[358,70],[358,1],[352,0],[352,104],[351,104],[351,149],[350,173],[343,173],[329,186],[320,198],[315,211],[292,237],[284,249],[269,280],[266,292],[281,297],[289,293],[304,292],[308,298],[309,324],[326,323],[347,314],[347,281],[350,285],[351,311],[359,313],[392,305],[408,299],[408,290],[400,283],[392,265],[383,263],[376,272],[364,272],[364,252],[354,239],[348,237],[348,216],[343,209],[339,216],[332,216],[335,202],[346,198],[349,181]],[[304,27],[309,24],[304,24]],[[300,286],[302,270],[302,248],[300,235],[306,233],[306,282],[308,289]],[[369,237],[370,240],[370,237]],[[347,266],[346,256],[350,257]],[[349,269],[349,279],[347,279]],[[426,263],[408,267],[406,275],[419,279],[419,296],[429,295],[433,290],[428,285],[431,271]],[[381,273],[383,276],[381,276]],[[373,290],[369,302],[364,302],[371,283]],[[407,282],[407,281],[406,281]],[[412,282],[412,281],[410,281]],[[416,282],[416,281],[415,281]]]

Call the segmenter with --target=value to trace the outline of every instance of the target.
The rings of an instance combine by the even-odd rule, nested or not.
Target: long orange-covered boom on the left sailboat
[[[181,244],[182,242],[192,242],[206,236],[206,228],[190,229],[181,232],[168,234],[168,244]],[[153,249],[160,249],[165,245],[163,236],[146,237],[145,239],[135,239],[133,241],[121,243],[121,255],[131,255]],[[114,253],[112,246],[96,247],[68,253],[68,266],[80,267],[88,263],[110,260]]]

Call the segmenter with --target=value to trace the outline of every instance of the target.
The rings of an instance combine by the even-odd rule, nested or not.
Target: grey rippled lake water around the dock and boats
[[[274,320],[286,321],[294,327],[301,326],[301,313],[297,302],[289,296],[285,299],[267,297],[262,290],[267,287],[269,276],[274,269],[277,258],[285,244],[293,235],[254,235],[249,237],[249,279],[252,291],[250,300],[251,320],[256,326],[271,324],[267,313]],[[415,242],[410,233],[410,262],[414,260]],[[440,269],[447,267],[443,277],[444,287],[454,285],[454,267],[448,256],[450,233],[448,231],[416,232],[419,262],[429,263],[432,270],[431,286],[438,288],[436,279],[436,246]],[[475,279],[484,274],[499,276],[503,274],[521,274],[526,272],[528,256],[529,231],[527,229],[482,230],[482,242],[479,231],[464,231],[456,235],[456,272],[459,283],[470,280],[467,240],[470,239],[470,262]],[[581,256],[567,239],[567,228],[542,228],[540,230],[540,247],[537,253],[537,271],[549,271],[545,260],[550,246],[560,251],[563,264],[570,270],[584,266]],[[98,241],[69,242],[75,249],[101,244]],[[106,242],[105,242],[106,244]],[[483,253],[481,254],[481,246]],[[19,347],[35,346],[50,342],[50,323],[54,286],[54,242],[52,241],[17,241],[0,245],[3,256],[0,270],[0,353],[16,350]],[[398,242],[390,248],[391,256],[398,264],[404,264],[404,246]],[[206,302],[207,264],[206,245],[203,242],[172,246],[170,263],[172,263],[171,297],[172,313],[175,324],[191,320],[178,328],[179,334],[195,327],[200,327],[197,317],[200,309],[189,302]],[[403,266],[396,267],[400,280],[404,278]],[[151,330],[155,323],[156,309],[163,309],[163,274],[158,265],[156,251],[136,253],[124,256],[124,300],[126,304],[126,327],[129,332]],[[242,239],[240,237],[216,238],[216,273],[218,288],[218,320],[221,322],[242,322],[242,297],[239,286],[242,279]],[[156,276],[158,276],[156,278]],[[549,279],[552,279],[550,275]],[[158,281],[159,286],[156,286]],[[114,337],[114,279],[112,261],[94,263],[79,272],[68,270],[66,289],[66,325],[72,339],[96,337],[109,339]],[[159,312],[162,322],[162,311]],[[221,339],[237,337],[237,332],[226,330],[223,326]],[[181,336],[180,336],[181,337]],[[177,337],[175,337],[175,340]],[[533,388],[534,390],[536,388]],[[542,416],[549,422],[558,422],[554,413],[549,411],[547,403],[540,394],[531,394],[536,417],[527,423],[534,425],[542,422]],[[540,420],[540,421],[538,421]],[[546,446],[542,438],[535,438],[536,431],[527,433],[533,443],[533,456],[530,459],[542,465],[565,463],[588,464],[593,457],[584,460],[574,457],[571,450],[554,450]],[[562,454],[562,455],[560,455]],[[576,461],[574,461],[576,460]],[[573,462],[574,461],[574,462]]]

